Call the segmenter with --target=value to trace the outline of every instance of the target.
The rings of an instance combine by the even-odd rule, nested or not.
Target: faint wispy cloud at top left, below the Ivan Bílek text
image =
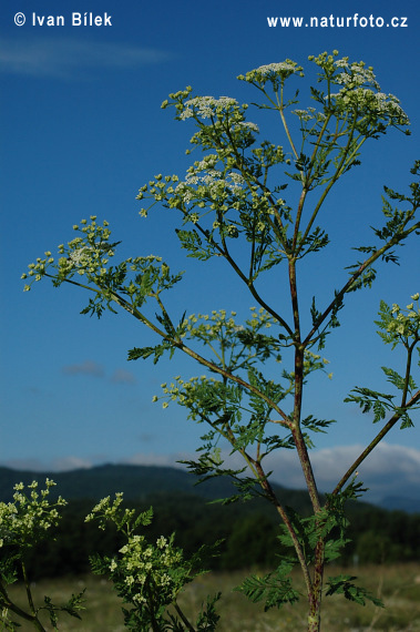
[[[0,70],[12,74],[83,79],[98,70],[156,64],[170,54],[158,49],[76,39],[0,40]]]

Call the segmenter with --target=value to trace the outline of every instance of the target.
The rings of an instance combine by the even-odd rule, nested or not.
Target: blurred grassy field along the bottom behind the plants
[[[334,571],[338,574],[340,571]],[[371,603],[360,606],[342,597],[326,598],[322,612],[322,632],[414,632],[420,631],[420,564],[401,564],[391,567],[366,567],[357,571],[346,569],[345,572],[357,574],[359,583],[368,588],[376,597],[382,599],[386,609],[376,608]],[[332,573],[331,573],[332,574]],[[208,573],[198,578],[188,587],[182,597],[185,611],[195,613],[207,594],[222,590],[218,611],[222,620],[221,632],[298,632],[306,630],[304,600],[294,606],[285,606],[280,611],[270,610],[264,613],[260,605],[250,603],[245,597],[233,592],[240,583],[244,573]],[[299,578],[296,575],[297,585]],[[82,621],[61,615],[60,631],[79,632],[122,632],[123,619],[120,601],[112,587],[98,577],[68,578],[42,581],[33,587],[37,604],[41,604],[48,594],[54,602],[64,601],[71,593],[86,588],[85,611]],[[24,598],[23,587],[14,585],[10,590],[12,598],[18,594]],[[20,603],[24,603],[19,599]],[[1,623],[0,623],[1,625]],[[47,625],[48,630],[52,630]],[[22,622],[22,632],[33,628]]]

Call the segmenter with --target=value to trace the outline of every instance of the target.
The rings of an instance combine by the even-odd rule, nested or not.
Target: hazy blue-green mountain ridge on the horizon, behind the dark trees
[[[51,493],[60,495],[66,500],[98,501],[106,496],[113,497],[120,491],[124,493],[125,500],[136,502],[160,493],[192,495],[214,500],[228,498],[236,490],[232,481],[226,478],[219,477],[196,485],[197,477],[186,470],[162,466],[102,465],[63,472],[34,472],[0,467],[0,501],[9,502],[12,499],[16,483],[29,485],[32,480],[37,480],[42,487],[47,478],[57,483],[54,492]],[[275,485],[275,488],[280,491],[286,504],[291,507],[308,504],[305,490],[287,489],[279,485]],[[385,499],[380,506],[383,509],[398,509],[408,513],[420,512],[419,500],[403,497]]]

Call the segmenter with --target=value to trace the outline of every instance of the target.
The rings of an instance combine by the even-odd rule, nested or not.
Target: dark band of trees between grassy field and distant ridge
[[[295,496],[294,509],[305,516],[308,508]],[[296,506],[297,502],[297,506]],[[130,508],[144,511],[153,506],[154,519],[146,538],[154,542],[160,536],[175,533],[175,542],[187,555],[203,543],[223,540],[219,554],[208,560],[213,570],[237,570],[249,567],[274,568],[284,551],[277,538],[276,512],[258,499],[232,506],[208,503],[198,496],[162,492]],[[123,546],[121,536],[110,526],[100,531],[85,523],[91,511],[89,500],[73,500],[62,510],[55,538],[35,547],[29,559],[33,580],[90,571],[92,552],[112,555]],[[340,562],[344,564],[393,563],[420,560],[420,516],[387,511],[354,502],[348,508],[349,542]]]

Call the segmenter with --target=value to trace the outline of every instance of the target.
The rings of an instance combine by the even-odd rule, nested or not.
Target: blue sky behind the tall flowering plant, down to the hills
[[[339,183],[326,206],[336,239],[325,258],[303,271],[301,287],[316,286],[320,299],[342,285],[350,247],[369,241],[379,224],[383,184],[407,191],[419,157],[420,9],[413,2],[322,2],[299,6],[215,0],[146,2],[52,1],[3,3],[0,9],[1,71],[1,448],[0,463],[30,469],[69,469],[101,462],[174,463],[189,457],[202,427],[184,410],[152,404],[160,384],[173,375],[201,374],[186,360],[157,367],[127,363],[133,346],[151,344],[126,315],[100,322],[80,316],[85,296],[72,287],[38,284],[22,292],[20,275],[45,249],[73,237],[72,225],[91,214],[111,223],[123,254],[161,254],[186,279],[173,296],[180,315],[250,305],[243,288],[217,265],[194,265],[180,251],[167,212],[139,216],[135,196],[155,173],[183,175],[193,129],[160,105],[170,92],[192,85],[195,93],[256,95],[235,78],[265,63],[338,49],[375,68],[383,92],[396,94],[409,114],[412,135],[391,131],[371,142],[362,166]],[[72,12],[111,17],[107,27],[71,24]],[[14,16],[22,12],[25,24]],[[32,14],[62,14],[63,27],[32,26]],[[404,28],[269,28],[267,17],[319,19],[332,14],[402,18]],[[37,20],[37,19],[35,19]],[[350,21],[350,24],[354,22]],[[379,22],[378,22],[379,23]],[[301,104],[309,104],[301,84]],[[305,88],[306,86],[306,88]],[[306,101],[306,103],[305,103]],[[253,112],[254,114],[254,112]],[[252,120],[257,120],[256,114]],[[284,143],[278,126],[270,140]],[[328,489],[377,431],[342,399],[356,385],[387,390],[380,366],[400,368],[402,357],[383,347],[373,319],[381,298],[406,305],[420,290],[418,244],[401,251],[401,265],[381,268],[370,292],[349,297],[342,326],[325,356],[331,381],[316,378],[307,409],[338,424],[317,437],[316,471]],[[268,288],[267,288],[268,292]],[[311,294],[309,298],[311,297]],[[278,296],[274,297],[278,300]],[[416,429],[395,429],[361,470],[372,495],[418,493],[419,414]],[[273,468],[284,485],[299,486],[295,463],[277,457]],[[389,471],[393,471],[392,475]],[[383,482],[386,481],[386,482]],[[417,490],[417,491],[416,491]]]

